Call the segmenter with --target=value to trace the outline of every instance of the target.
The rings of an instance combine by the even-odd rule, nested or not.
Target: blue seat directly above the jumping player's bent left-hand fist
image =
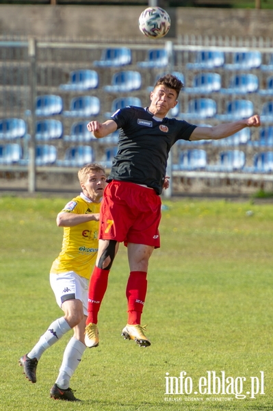
[[[66,117],[89,117],[99,114],[100,101],[98,97],[80,96],[70,101],[70,111],[64,111]]]

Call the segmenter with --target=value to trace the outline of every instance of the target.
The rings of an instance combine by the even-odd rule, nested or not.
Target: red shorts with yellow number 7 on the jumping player
[[[130,182],[110,182],[101,203],[99,238],[160,247],[161,198]]]

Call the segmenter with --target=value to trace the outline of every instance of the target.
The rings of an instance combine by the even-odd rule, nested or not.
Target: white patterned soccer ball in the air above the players
[[[148,7],[138,19],[140,32],[149,38],[166,36],[170,29],[170,16],[160,7]]]

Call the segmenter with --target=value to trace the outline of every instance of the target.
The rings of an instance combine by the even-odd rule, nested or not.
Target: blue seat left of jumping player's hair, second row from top
[[[141,75],[138,71],[120,71],[112,77],[112,85],[103,87],[107,92],[126,92],[139,90],[141,87]]]

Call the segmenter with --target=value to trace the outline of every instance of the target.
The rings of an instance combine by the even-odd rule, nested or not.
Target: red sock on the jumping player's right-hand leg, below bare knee
[[[131,271],[126,288],[128,301],[128,324],[140,324],[147,291],[147,273]]]

